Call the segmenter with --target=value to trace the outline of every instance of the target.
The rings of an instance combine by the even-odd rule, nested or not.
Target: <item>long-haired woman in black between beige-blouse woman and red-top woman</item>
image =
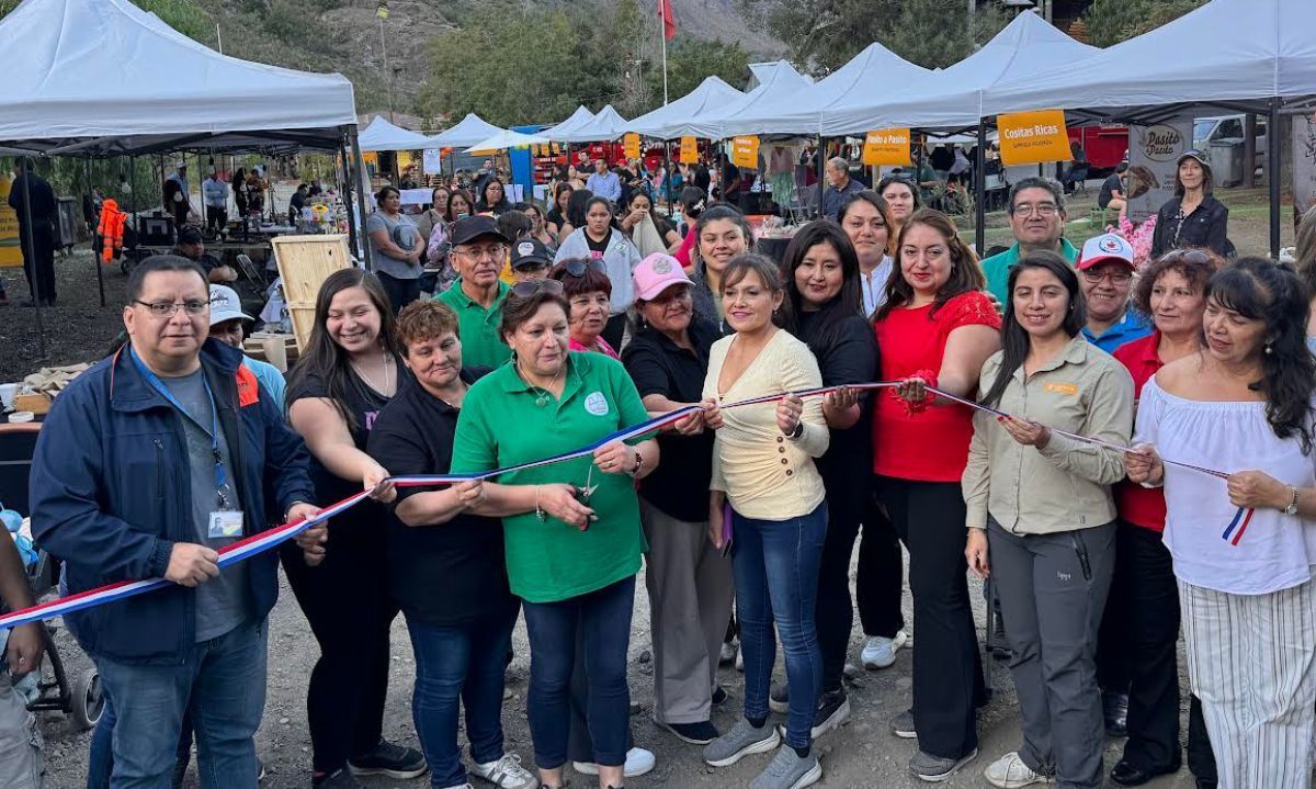
[[[859,258],[850,240],[830,220],[812,221],[795,234],[782,261],[786,300],[784,328],[804,341],[817,358],[822,386],[873,381],[878,344],[863,316]],[[863,402],[861,402],[861,399]],[[830,431],[819,473],[826,489],[828,526],[819,565],[816,622],[822,652],[822,686],[813,714],[813,736],[840,726],[850,714],[841,682],[845,653],[854,627],[850,599],[850,555],[871,494],[873,424],[867,402],[851,390],[822,398]],[[863,568],[859,569],[865,573]],[[776,711],[788,709],[788,686],[774,694]]]

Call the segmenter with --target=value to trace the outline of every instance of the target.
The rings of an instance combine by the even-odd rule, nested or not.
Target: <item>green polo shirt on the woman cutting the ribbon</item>
[[[528,386],[515,365],[476,381],[462,402],[453,439],[453,472],[486,472],[587,447],[649,419],[621,362],[601,353],[569,354],[562,398]],[[591,457],[515,472],[503,485],[597,485],[590,507],[599,519],[579,531],[533,511],[503,519],[512,593],[532,603],[569,599],[640,572],[647,551],[640,501],[626,474],[604,474]],[[691,491],[704,495],[703,491]]]

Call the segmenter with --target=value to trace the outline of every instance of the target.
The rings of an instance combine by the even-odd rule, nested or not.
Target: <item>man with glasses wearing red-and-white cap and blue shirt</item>
[[[1083,245],[1078,266],[1079,287],[1087,306],[1083,336],[1107,353],[1152,333],[1148,319],[1129,311],[1133,291],[1133,246],[1123,236],[1104,233]]]

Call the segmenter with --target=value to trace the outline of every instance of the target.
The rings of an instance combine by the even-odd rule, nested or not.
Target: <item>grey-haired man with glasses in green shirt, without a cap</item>
[[[1025,178],[1011,187],[1009,231],[1015,234],[1015,245],[1000,254],[994,254],[982,262],[987,277],[987,290],[1001,304],[1009,298],[1009,270],[1019,258],[1038,249],[1058,253],[1074,263],[1078,250],[1061,237],[1065,232],[1065,188],[1050,178]]]

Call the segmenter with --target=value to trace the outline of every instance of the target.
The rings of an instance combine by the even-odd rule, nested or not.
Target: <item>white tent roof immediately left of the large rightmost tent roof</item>
[[[1001,82],[1037,79],[1058,65],[1082,62],[1101,50],[1080,43],[1026,11],[954,66],[928,71],[921,79],[887,94],[857,95],[822,111],[826,136],[862,134],[870,129],[911,126],[961,129],[976,126],[983,92]]]

